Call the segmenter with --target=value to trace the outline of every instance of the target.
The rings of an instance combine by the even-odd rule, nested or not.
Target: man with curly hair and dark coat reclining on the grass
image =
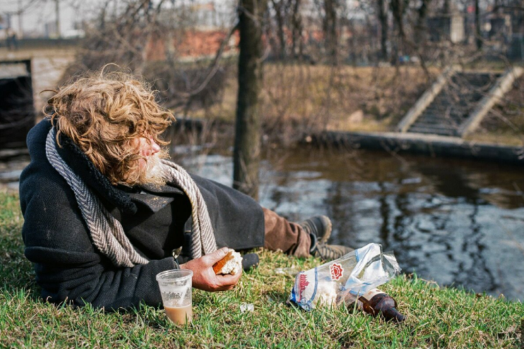
[[[160,135],[173,115],[132,76],[101,73],[53,93],[47,117],[29,132],[20,183],[25,256],[47,301],[157,306],[155,275],[164,270],[193,270],[200,290],[232,289],[241,273],[212,270],[228,248],[324,259],[349,251],[325,244],[327,217],[288,222],[169,161]],[[244,269],[254,263],[246,261]]]

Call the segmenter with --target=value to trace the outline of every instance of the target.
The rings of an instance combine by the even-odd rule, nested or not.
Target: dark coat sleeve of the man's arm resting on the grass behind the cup
[[[29,173],[29,174],[28,174]],[[161,304],[155,276],[175,268],[173,258],[133,268],[116,268],[91,244],[74,194],[54,176],[32,181],[30,168],[21,181],[25,256],[35,263],[42,297],[108,310]]]

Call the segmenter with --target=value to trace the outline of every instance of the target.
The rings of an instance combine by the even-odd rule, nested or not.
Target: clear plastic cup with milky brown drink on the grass
[[[189,324],[193,319],[192,282],[193,270],[167,270],[156,275],[166,316],[174,324]]]

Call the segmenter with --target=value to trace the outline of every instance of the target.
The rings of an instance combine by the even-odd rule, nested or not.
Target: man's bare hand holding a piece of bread
[[[198,290],[208,292],[231,290],[239,282],[242,270],[235,275],[216,275],[213,271],[213,264],[224,258],[228,252],[229,248],[220,248],[213,253],[183,263],[180,268],[193,270],[193,287]]]

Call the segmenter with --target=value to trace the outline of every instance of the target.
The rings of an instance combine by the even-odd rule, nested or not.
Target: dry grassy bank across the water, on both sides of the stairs
[[[472,67],[473,70],[500,67]],[[323,65],[267,63],[264,66],[260,113],[270,137],[293,139],[303,131],[394,132],[401,118],[440,70],[420,67],[326,67]],[[223,81],[220,103],[188,110],[190,118],[233,122],[237,108],[234,68]],[[493,108],[477,131],[474,142],[524,144],[524,77]]]

